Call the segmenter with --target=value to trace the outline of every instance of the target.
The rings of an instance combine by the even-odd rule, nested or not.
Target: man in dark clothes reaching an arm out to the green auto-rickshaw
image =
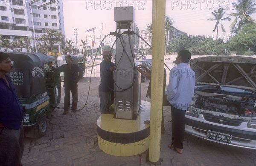
[[[72,57],[67,55],[65,57],[66,63],[61,65],[58,68],[52,67],[52,64],[49,63],[49,66],[53,69],[58,69],[58,72],[64,73],[64,112],[63,114],[67,114],[70,109],[70,91],[72,93],[72,106],[71,109],[73,112],[76,112],[78,94],[77,94],[77,83],[83,77],[83,70],[77,64],[72,63]]]

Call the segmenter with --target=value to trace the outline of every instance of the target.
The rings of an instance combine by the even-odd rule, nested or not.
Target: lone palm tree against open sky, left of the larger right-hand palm
[[[216,21],[215,27],[213,29],[213,32],[217,30],[215,46],[217,46],[217,41],[218,41],[218,25],[220,24],[220,21],[225,21],[225,20],[230,21],[231,20],[230,17],[223,18],[224,14],[225,14],[224,8],[223,7],[219,7],[218,11],[214,10],[214,12],[212,12],[213,18],[207,19],[207,20],[210,20],[210,21]],[[223,31],[223,33],[226,32],[225,29],[224,29],[224,26],[222,24],[221,24],[221,30]]]

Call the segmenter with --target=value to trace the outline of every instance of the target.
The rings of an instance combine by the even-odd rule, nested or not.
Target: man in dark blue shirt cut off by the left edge
[[[8,54],[0,52],[0,165],[22,166],[24,112],[12,85],[13,64]]]

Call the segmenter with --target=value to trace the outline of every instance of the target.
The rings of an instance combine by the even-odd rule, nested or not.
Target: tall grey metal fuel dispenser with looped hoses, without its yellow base
[[[140,109],[140,72],[134,66],[134,8],[115,7],[116,69],[114,72],[116,118],[136,119]],[[133,26],[134,25],[134,26]],[[126,29],[126,31],[125,31]],[[127,31],[128,30],[128,31]]]

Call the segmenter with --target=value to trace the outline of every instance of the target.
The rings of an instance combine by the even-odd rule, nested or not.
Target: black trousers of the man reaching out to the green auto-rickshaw
[[[64,88],[64,111],[69,111],[70,109],[70,91],[72,93],[72,106],[71,109],[75,110],[77,107],[77,100],[78,100],[78,94],[77,94],[77,86],[67,86]]]

